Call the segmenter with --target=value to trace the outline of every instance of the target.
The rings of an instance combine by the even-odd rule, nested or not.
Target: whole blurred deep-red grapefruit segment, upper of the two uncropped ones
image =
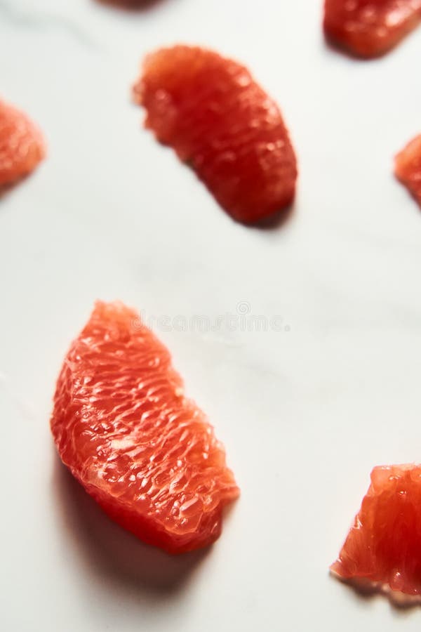
[[[145,126],[188,162],[236,220],[286,208],[297,164],[279,107],[237,62],[189,46],[148,55],[133,88]]]

